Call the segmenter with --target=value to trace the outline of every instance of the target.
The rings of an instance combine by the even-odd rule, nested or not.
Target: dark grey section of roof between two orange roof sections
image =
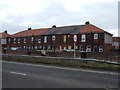
[[[85,25],[63,26],[51,28],[44,35],[49,34],[78,34]]]

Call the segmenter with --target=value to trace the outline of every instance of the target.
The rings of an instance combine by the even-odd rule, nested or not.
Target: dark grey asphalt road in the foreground
[[[113,72],[2,62],[3,88],[118,88]]]

